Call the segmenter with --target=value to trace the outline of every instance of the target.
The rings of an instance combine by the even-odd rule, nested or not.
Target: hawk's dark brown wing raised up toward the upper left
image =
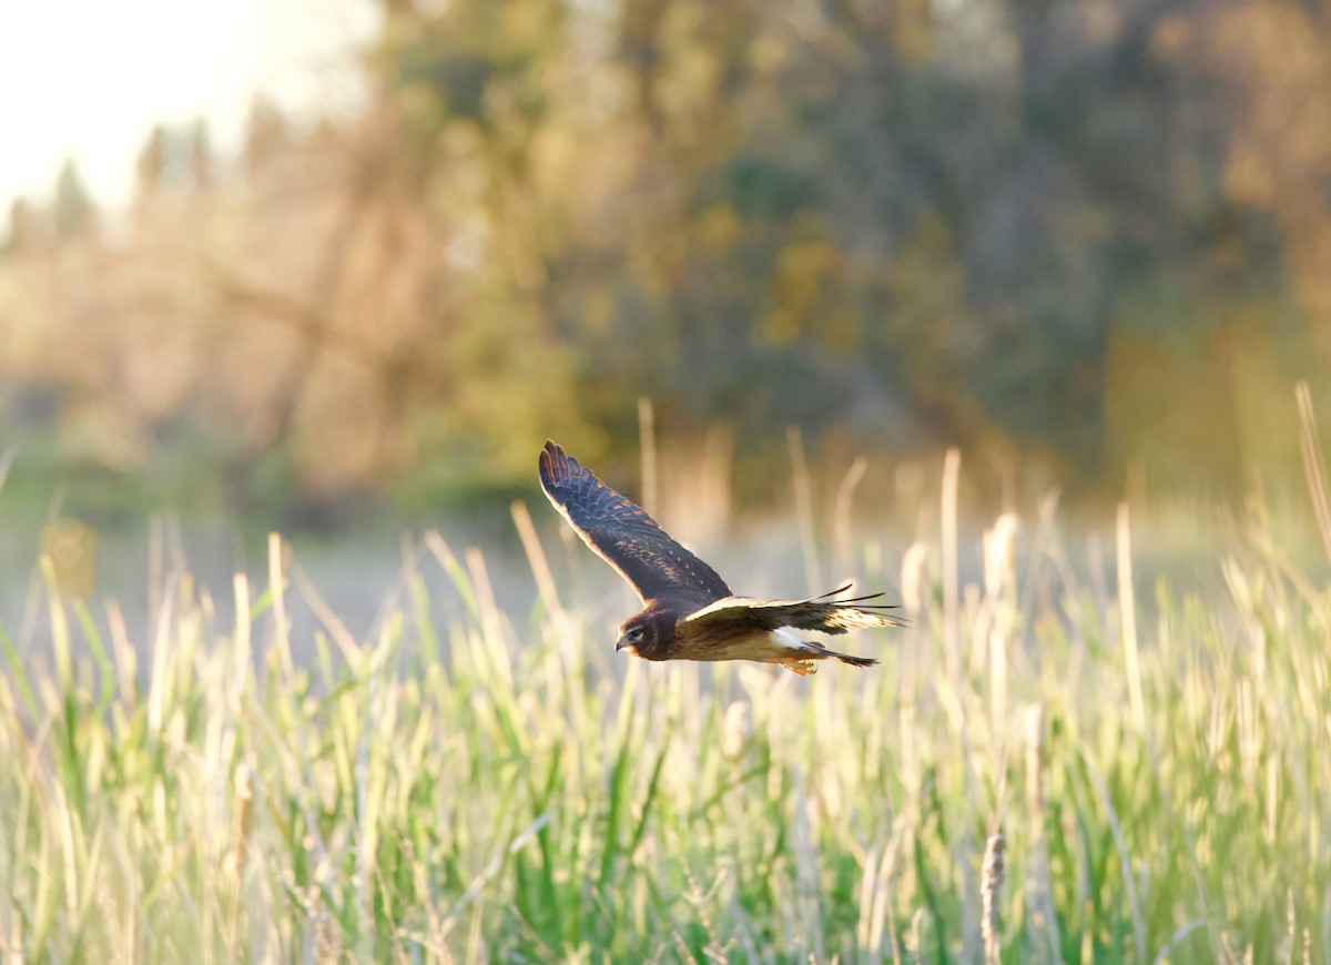
[[[643,603],[668,599],[705,606],[731,595],[725,580],[671,539],[643,507],[550,441],[540,453],[540,487],[583,542],[632,584]]]

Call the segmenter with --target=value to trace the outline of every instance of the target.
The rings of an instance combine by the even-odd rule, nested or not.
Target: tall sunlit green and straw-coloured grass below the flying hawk
[[[972,538],[957,478],[900,547],[804,499],[724,560],[901,594],[813,677],[616,659],[535,502],[530,596],[430,532],[365,639],[278,538],[137,642],[48,560],[40,652],[0,614],[5,961],[1331,961],[1318,531],[1254,502],[1193,587],[1138,562],[1179,512]]]

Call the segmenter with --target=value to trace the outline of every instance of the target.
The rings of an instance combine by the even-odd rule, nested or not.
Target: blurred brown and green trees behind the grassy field
[[[843,467],[961,445],[994,491],[1230,499],[1299,482],[1295,379],[1331,425],[1326,0],[378,24],[354,117],[258,101],[240,156],[154,130],[128,210],[73,162],[12,205],[11,506],[506,507],[547,435],[632,491],[639,398],[755,504],[788,426]]]

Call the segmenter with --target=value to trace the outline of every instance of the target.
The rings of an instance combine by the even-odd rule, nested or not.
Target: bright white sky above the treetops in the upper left
[[[253,96],[291,110],[353,109],[350,64],[369,0],[0,3],[0,217],[48,197],[73,156],[102,205],[128,201],[153,124],[209,121],[234,150]]]

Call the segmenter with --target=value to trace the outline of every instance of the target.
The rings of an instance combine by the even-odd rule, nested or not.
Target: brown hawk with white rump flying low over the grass
[[[712,567],[676,543],[647,512],[580,466],[554,442],[540,453],[540,487],[602,559],[643,600],[624,620],[615,650],[644,660],[760,660],[812,674],[815,660],[836,658],[853,667],[878,663],[801,640],[796,630],[844,634],[861,627],[900,627],[878,599],[835,600],[849,587],[809,600],[736,596]]]

